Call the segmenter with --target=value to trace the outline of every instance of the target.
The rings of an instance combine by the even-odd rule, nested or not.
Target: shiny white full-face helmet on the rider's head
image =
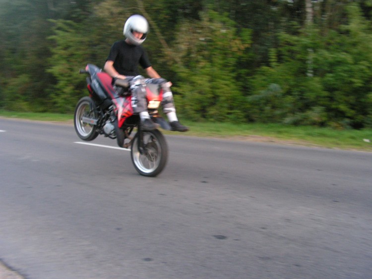
[[[142,38],[137,39],[133,36],[133,31],[143,33]],[[148,23],[146,18],[144,18],[142,15],[134,14],[130,16],[125,24],[124,24],[124,36],[129,40],[129,42],[133,45],[139,46],[143,43],[144,40],[146,40],[148,32]]]

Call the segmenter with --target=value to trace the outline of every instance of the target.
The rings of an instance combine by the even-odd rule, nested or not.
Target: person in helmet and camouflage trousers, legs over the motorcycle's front
[[[150,60],[141,46],[148,32],[147,20],[138,14],[130,16],[124,24],[125,40],[115,42],[107,57],[104,70],[114,79],[127,79],[131,89],[132,108],[141,119],[143,130],[154,130],[157,126],[147,112],[146,83],[160,84],[163,88],[163,111],[167,114],[173,131],[186,132],[188,128],[182,125],[176,115],[173,94],[170,89],[172,83],[161,78],[151,66]],[[152,79],[145,79],[138,73],[138,64],[145,69]]]

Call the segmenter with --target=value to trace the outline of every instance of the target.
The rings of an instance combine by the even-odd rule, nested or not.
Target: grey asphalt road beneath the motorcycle
[[[166,136],[147,178],[71,125],[0,130],[0,260],[25,278],[372,276],[372,153]]]

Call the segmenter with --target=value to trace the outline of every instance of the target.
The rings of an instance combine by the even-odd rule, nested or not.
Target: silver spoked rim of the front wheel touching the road
[[[161,161],[161,146],[155,136],[149,132],[143,132],[143,144],[146,153],[141,154],[138,150],[138,138],[132,144],[133,163],[143,173],[151,173],[159,167]]]

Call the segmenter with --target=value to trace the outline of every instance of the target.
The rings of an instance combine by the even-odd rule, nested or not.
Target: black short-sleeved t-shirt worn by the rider
[[[129,45],[124,40],[114,43],[107,60],[114,61],[118,73],[127,76],[139,75],[138,64],[144,69],[151,66],[142,46]]]

